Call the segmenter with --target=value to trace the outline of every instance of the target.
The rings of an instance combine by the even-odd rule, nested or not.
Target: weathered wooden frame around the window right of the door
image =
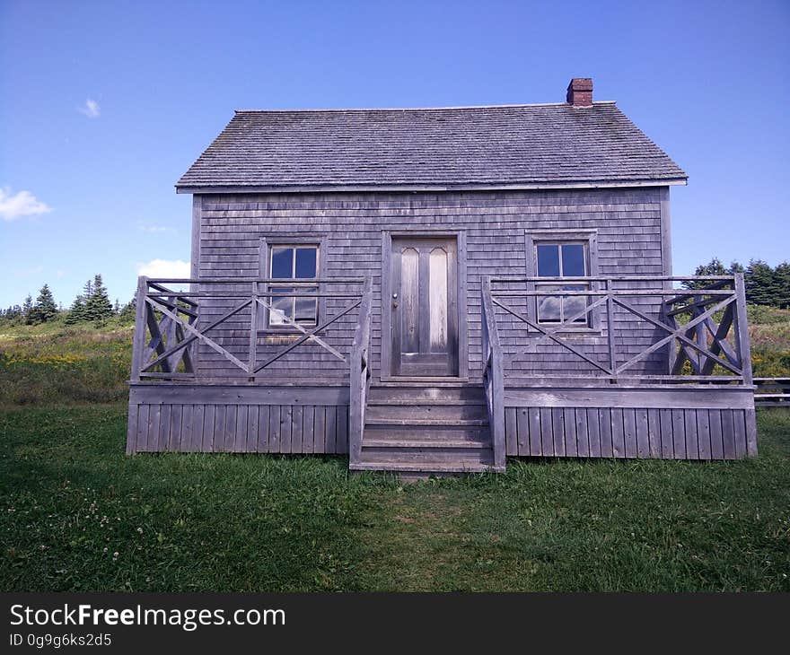
[[[526,249],[526,268],[527,277],[538,277],[538,246],[539,245],[557,245],[564,244],[581,244],[584,246],[584,264],[586,266],[587,276],[595,277],[598,274],[598,231],[595,229],[590,230],[528,230],[524,233],[524,246]],[[561,257],[561,254],[560,254]],[[561,269],[560,269],[561,270]],[[530,291],[537,291],[541,284],[557,284],[557,283],[540,283],[531,281],[527,284]],[[589,283],[591,291],[597,291],[601,285],[592,282]],[[591,297],[592,298],[592,297]],[[527,316],[534,322],[538,323],[538,297],[533,296],[527,302]],[[574,326],[565,326],[559,328],[562,333],[577,333],[581,335],[598,335],[601,333],[600,319],[598,318],[598,310],[592,310],[587,315],[586,323],[578,323]],[[541,322],[541,326],[548,329],[557,327],[559,323],[554,322]],[[540,332],[536,332],[540,336]]]

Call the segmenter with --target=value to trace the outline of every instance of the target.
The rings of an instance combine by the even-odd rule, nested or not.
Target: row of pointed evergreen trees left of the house
[[[37,325],[48,321],[65,318],[66,325],[97,322],[112,316],[134,316],[135,299],[121,305],[118,300],[110,302],[107,288],[101,275],[93,275],[83,286],[83,293],[78,293],[68,310],[58,306],[48,284],[44,284],[35,301],[29,294],[22,305],[12,305],[0,310],[0,320],[13,324]]]

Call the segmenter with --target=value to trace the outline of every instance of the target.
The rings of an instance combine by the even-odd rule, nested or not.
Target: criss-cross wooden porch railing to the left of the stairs
[[[189,291],[165,286],[166,284],[190,286]],[[198,344],[205,345],[221,354],[233,367],[246,374],[247,379],[255,381],[261,371],[281,360],[300,345],[310,342],[341,362],[348,362],[347,355],[338,347],[328,343],[325,336],[327,327],[363,305],[367,299],[366,313],[370,314],[370,293],[363,293],[363,278],[325,278],[315,280],[283,279],[149,279],[140,277],[136,295],[136,324],[132,352],[131,380],[171,380],[201,381],[198,366]],[[276,287],[274,290],[270,287]],[[285,288],[287,291],[284,291]],[[370,288],[369,282],[366,287]],[[346,305],[335,310],[327,317],[319,311],[317,324],[305,326],[277,310],[274,298],[308,298],[316,302],[328,299],[346,301]],[[230,309],[227,309],[231,305]],[[218,311],[224,311],[217,317]],[[291,328],[300,334],[298,338],[268,354],[259,361],[259,308],[276,314],[278,325]],[[227,310],[224,310],[227,309]],[[206,310],[206,311],[204,311]],[[212,310],[213,313],[207,313]],[[238,320],[240,316],[249,321],[240,330],[233,326],[233,336],[241,334],[249,337],[248,353],[244,361],[233,354],[220,342],[215,330],[222,330],[229,319]],[[368,334],[369,318],[366,319]],[[365,351],[366,353],[366,351]],[[366,354],[364,355],[366,358]]]

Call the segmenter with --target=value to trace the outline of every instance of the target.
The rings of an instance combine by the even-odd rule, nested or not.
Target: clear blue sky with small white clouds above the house
[[[790,258],[790,3],[0,0],[0,306],[189,261],[233,109],[552,102],[592,76],[689,173],[675,272]],[[22,193],[22,192],[27,192]],[[170,262],[171,264],[167,264]]]

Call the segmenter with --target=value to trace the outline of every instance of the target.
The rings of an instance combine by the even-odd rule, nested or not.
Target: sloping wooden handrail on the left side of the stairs
[[[352,464],[362,456],[364,414],[367,409],[371,382],[370,335],[373,286],[368,278],[364,286],[359,322],[356,326],[354,343],[351,345],[351,395],[348,403],[348,452]]]

